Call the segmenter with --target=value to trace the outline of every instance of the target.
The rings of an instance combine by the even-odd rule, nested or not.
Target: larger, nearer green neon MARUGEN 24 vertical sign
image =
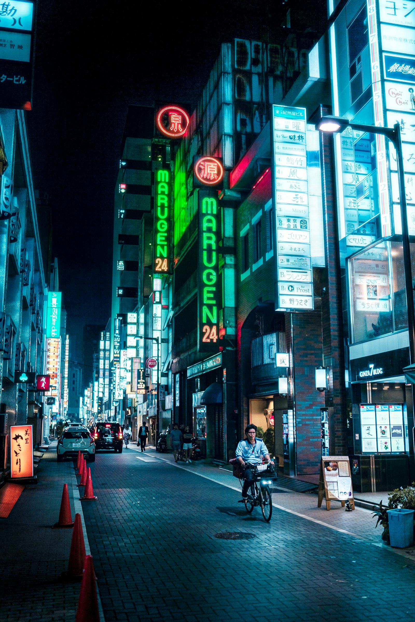
[[[217,192],[199,190],[198,199],[198,350],[216,352],[219,337],[219,240]]]

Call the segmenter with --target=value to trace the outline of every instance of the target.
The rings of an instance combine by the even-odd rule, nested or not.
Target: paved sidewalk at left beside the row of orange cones
[[[2,622],[75,621],[80,583],[60,579],[68,565],[72,529],[51,528],[58,520],[63,484],[68,484],[72,518],[79,511],[74,479],[73,462],[58,464],[52,443],[37,468],[37,485],[25,486],[8,518],[0,519]]]

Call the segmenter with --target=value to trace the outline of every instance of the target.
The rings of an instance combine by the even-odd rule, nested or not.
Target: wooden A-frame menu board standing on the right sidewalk
[[[330,509],[331,501],[341,501],[343,508],[346,501],[349,501],[352,509],[355,509],[349,456],[323,456],[321,458],[319,508],[324,498],[327,510]]]

